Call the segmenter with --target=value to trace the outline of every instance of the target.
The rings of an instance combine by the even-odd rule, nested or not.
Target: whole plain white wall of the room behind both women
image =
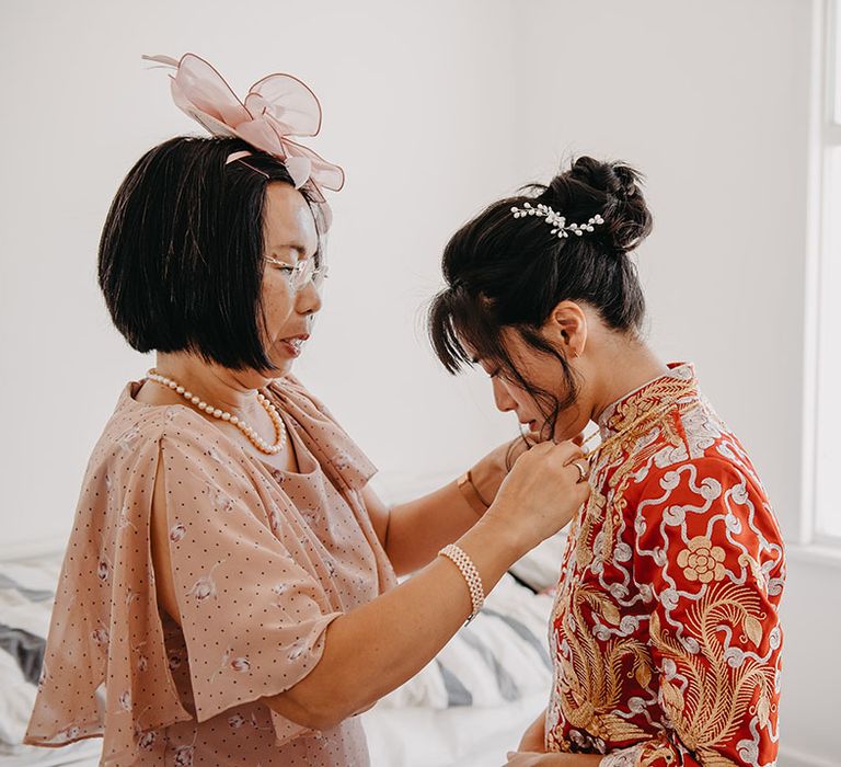
[[[194,130],[139,60],[185,50],[238,91],[292,71],[324,104],[315,147],[348,184],[299,373],[385,476],[452,474],[512,433],[485,381],[438,369],[420,310],[461,221],[591,152],[648,175],[652,342],[696,363],[797,539],[811,2],[264,2],[251,19],[191,5],[0,8],[0,543],[67,535],[87,455],[149,364],[110,328],[95,249],[134,160]],[[839,762],[832,562],[791,561],[781,764]]]

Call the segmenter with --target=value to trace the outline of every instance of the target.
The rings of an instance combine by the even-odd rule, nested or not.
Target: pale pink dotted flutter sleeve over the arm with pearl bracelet
[[[199,721],[289,689],[319,662],[331,607],[316,554],[238,458],[161,440],[172,577]],[[273,712],[283,743],[306,729]]]

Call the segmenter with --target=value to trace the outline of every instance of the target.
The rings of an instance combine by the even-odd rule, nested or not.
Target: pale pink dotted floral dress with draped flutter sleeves
[[[395,583],[360,500],[375,468],[293,378],[278,471],[187,405],[129,384],[88,466],[26,742],[103,736],[104,765],[367,765],[361,725],[315,732],[261,699],[319,662],[329,623]],[[164,483],[181,626],[149,543]]]

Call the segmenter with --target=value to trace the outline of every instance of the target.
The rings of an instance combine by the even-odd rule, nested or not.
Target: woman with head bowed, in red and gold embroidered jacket
[[[479,362],[497,407],[544,439],[590,421],[601,436],[551,618],[551,698],[511,765],[776,759],[782,538],[692,366],[642,336],[629,253],[650,226],[638,174],[584,157],[491,205],[443,256],[442,363]]]

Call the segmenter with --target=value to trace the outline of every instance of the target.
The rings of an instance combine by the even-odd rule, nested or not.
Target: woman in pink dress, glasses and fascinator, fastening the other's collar
[[[148,151],[105,222],[107,307],[157,366],[91,456],[27,742],[104,736],[103,764],[120,766],[365,765],[353,716],[568,522],[588,495],[580,453],[538,446],[497,492],[504,446],[385,508],[373,467],[290,375],[321,308],[320,182],[341,171],[279,116],[312,133],[318,103],[280,77],[243,105],[197,57],[164,62],[217,135]]]

